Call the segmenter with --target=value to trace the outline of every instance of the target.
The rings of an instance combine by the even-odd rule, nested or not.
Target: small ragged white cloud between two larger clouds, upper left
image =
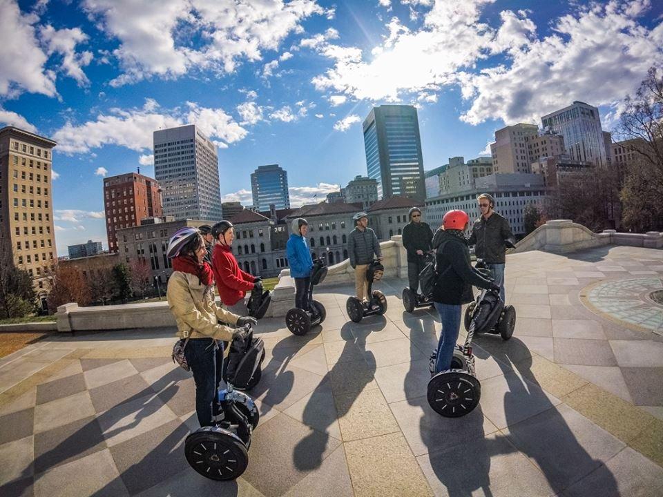
[[[76,52],[76,46],[88,40],[88,35],[80,28],[56,30],[52,26],[41,26],[39,35],[48,47],[48,55],[59,53],[62,55],[61,67],[65,74],[73,77],[80,86],[87,86],[90,80],[83,72],[85,66],[93,59],[92,52]]]

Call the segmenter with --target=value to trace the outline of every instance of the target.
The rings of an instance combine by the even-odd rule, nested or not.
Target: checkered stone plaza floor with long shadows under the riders
[[[514,336],[474,341],[482,396],[464,418],[426,401],[434,311],[349,322],[323,288],[323,327],[262,320],[267,355],[249,467],[196,474],[193,378],[173,329],[58,335],[0,360],[0,496],[661,496],[663,251],[509,255]],[[463,340],[463,337],[459,340]]]

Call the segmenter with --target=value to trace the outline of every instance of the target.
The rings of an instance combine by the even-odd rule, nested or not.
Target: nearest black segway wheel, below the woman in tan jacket
[[[249,465],[242,440],[218,427],[201,428],[186,437],[184,456],[195,471],[212,480],[235,480]]]

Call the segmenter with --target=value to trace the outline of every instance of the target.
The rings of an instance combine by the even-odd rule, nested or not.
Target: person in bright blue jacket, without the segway
[[[311,271],[313,271],[313,259],[311,251],[306,242],[306,233],[309,231],[309,223],[298,217],[292,222],[290,238],[285,246],[285,255],[290,265],[290,275],[295,279],[295,306],[302,311],[310,311],[308,290],[311,285]]]

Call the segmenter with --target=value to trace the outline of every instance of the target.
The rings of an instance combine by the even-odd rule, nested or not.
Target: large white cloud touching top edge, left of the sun
[[[327,14],[315,0],[219,2],[217,0],[85,0],[99,27],[119,40],[113,55],[124,74],[111,84],[156,76],[175,78],[191,69],[233,72],[238,61],[262,59],[300,23]],[[180,43],[179,32],[200,35],[202,46]]]

